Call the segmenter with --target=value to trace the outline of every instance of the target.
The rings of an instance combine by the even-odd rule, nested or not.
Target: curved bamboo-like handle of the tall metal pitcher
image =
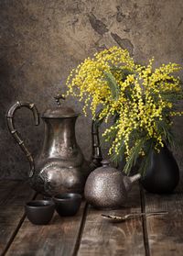
[[[33,116],[34,116],[35,125],[38,126],[38,124],[39,124],[38,109],[34,103],[29,103],[29,102],[18,102],[17,101],[16,104],[11,106],[10,109],[8,110],[7,115],[6,115],[6,121],[7,121],[7,127],[9,129],[11,135],[13,136],[14,139],[16,139],[16,143],[19,145],[21,150],[23,150],[23,152],[27,156],[27,160],[29,161],[29,164],[30,164],[30,172],[29,172],[28,176],[32,177],[34,174],[34,171],[35,171],[35,163],[34,163],[33,156],[27,149],[24,141],[21,139],[21,137],[20,137],[19,133],[17,132],[15,125],[14,125],[14,116],[15,116],[16,110],[21,107],[27,107],[28,109],[30,109],[32,111]]]

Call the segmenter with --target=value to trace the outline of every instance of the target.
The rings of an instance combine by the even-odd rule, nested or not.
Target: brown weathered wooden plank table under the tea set
[[[181,187],[181,185],[180,185]],[[183,194],[151,195],[136,184],[125,207],[111,214],[167,210],[167,216],[136,217],[122,223],[82,202],[75,217],[55,213],[47,226],[31,224],[25,202],[37,195],[27,183],[0,182],[1,255],[183,255]],[[38,195],[39,196],[39,195]],[[109,213],[109,212],[107,212]]]

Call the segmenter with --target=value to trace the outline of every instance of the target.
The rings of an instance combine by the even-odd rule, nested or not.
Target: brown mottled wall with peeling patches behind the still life
[[[183,62],[182,0],[1,0],[0,1],[0,177],[27,177],[28,163],[5,127],[5,112],[16,100],[52,106],[70,72],[96,50],[118,45],[136,61]],[[183,77],[183,74],[180,73]],[[68,105],[80,111],[81,104]],[[80,117],[77,139],[87,158],[90,117]],[[43,126],[31,114],[16,115],[16,128],[37,155]],[[183,142],[183,120],[176,120]],[[175,150],[183,166],[181,148]]]

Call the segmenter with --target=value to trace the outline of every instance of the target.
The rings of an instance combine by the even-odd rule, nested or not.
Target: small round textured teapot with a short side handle
[[[102,161],[102,167],[94,170],[88,177],[84,196],[96,208],[119,208],[124,206],[132,184],[140,174],[127,177],[111,167],[109,161]]]

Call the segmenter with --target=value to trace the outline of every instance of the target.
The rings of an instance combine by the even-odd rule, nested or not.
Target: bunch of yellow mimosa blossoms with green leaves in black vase
[[[181,67],[176,63],[153,68],[136,64],[127,50],[113,47],[87,58],[70,72],[67,95],[84,101],[94,119],[113,118],[113,125],[103,133],[109,141],[109,154],[114,161],[122,158],[129,173],[136,160],[144,158],[140,172],[151,150],[160,150],[164,141],[171,142],[171,117],[181,116],[175,102],[182,95],[178,76]]]

